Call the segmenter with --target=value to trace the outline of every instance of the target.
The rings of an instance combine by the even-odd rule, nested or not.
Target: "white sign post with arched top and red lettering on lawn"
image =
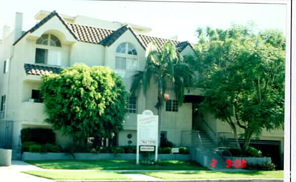
[[[158,154],[158,116],[151,110],[144,110],[137,117],[137,164],[139,164],[139,146],[141,151],[153,151],[155,146],[155,161]]]

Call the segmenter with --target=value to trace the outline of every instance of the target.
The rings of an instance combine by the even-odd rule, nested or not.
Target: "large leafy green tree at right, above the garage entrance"
[[[234,132],[237,148],[247,151],[252,137],[283,128],[285,45],[281,32],[258,34],[248,26],[198,30],[202,38],[187,62],[205,88],[201,106]],[[276,35],[276,36],[273,36]],[[205,38],[206,37],[206,38]],[[238,129],[244,143],[238,143]]]

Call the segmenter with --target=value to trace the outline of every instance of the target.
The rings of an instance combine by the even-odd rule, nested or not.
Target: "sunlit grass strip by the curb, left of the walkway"
[[[111,180],[111,179],[131,179],[115,172],[101,171],[22,171],[38,177],[54,180]]]

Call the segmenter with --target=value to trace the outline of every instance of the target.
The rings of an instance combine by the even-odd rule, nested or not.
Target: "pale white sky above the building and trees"
[[[1,3],[0,3],[1,4]],[[5,1],[0,5],[0,39],[4,25],[14,26],[15,12],[23,13],[23,30],[37,20],[40,11],[54,11],[70,16],[88,16],[107,21],[129,22],[152,28],[147,35],[197,41],[195,30],[229,28],[232,23],[256,22],[259,30],[276,28],[285,33],[286,6],[270,4],[221,4],[123,1]]]

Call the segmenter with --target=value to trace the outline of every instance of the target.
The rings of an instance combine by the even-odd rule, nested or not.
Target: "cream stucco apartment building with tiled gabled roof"
[[[158,49],[171,41],[180,55],[193,54],[188,41],[178,41],[146,35],[151,28],[130,23],[109,22],[85,16],[68,16],[57,12],[40,11],[35,19],[39,22],[28,31],[22,30],[22,13],[16,13],[15,28],[3,27],[0,40],[0,147],[20,146],[22,128],[50,128],[43,120],[44,104],[40,100],[41,76],[59,73],[61,68],[76,63],[88,66],[108,66],[123,79],[126,89],[131,86],[131,76],[145,66],[147,45],[155,41]],[[211,139],[229,133],[227,123],[218,121],[210,113],[204,120],[192,112],[192,103],[201,102],[202,90],[186,93],[185,103],[179,107],[173,89],[168,89],[170,100],[163,106],[162,139],[167,138],[176,146],[191,145],[192,123],[204,130]],[[137,114],[152,110],[157,102],[155,85],[146,95],[130,98],[124,130],[117,135],[117,145],[136,145]],[[70,136],[55,131],[57,144],[66,146]],[[264,131],[258,145],[276,146],[278,155],[283,154],[283,130]],[[231,137],[230,137],[231,138]],[[282,160],[282,159],[281,159]]]

